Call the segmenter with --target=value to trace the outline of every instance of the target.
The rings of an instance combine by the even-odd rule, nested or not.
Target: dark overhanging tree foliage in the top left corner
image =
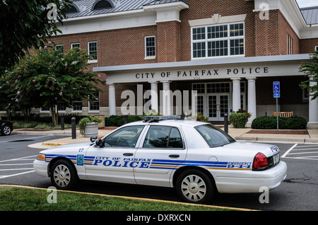
[[[57,23],[66,18],[69,4],[71,0],[0,1],[0,74],[28,49],[43,47],[47,38],[61,32]]]

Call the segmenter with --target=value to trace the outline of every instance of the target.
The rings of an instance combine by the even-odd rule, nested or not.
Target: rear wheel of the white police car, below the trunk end
[[[182,172],[177,178],[176,188],[183,200],[196,204],[211,201],[216,190],[211,178],[197,169]]]

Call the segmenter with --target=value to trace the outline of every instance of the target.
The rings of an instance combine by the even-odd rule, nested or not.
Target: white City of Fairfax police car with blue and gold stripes
[[[203,203],[218,193],[276,188],[287,166],[276,145],[236,142],[209,123],[147,117],[102,139],[38,154],[34,169],[66,190],[79,180],[176,188],[183,200]]]

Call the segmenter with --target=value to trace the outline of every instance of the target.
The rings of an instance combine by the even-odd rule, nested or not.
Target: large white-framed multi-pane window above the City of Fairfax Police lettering
[[[245,55],[244,23],[192,28],[192,59]]]

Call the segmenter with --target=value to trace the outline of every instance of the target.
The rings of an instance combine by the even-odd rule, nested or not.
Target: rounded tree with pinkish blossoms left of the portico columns
[[[105,80],[86,70],[88,59],[86,50],[74,48],[61,54],[51,42],[34,50],[0,80],[6,108],[23,111],[28,121],[31,108],[49,107],[57,125],[59,105],[70,106],[75,99],[91,102],[93,92],[102,92],[99,84],[105,85]]]

